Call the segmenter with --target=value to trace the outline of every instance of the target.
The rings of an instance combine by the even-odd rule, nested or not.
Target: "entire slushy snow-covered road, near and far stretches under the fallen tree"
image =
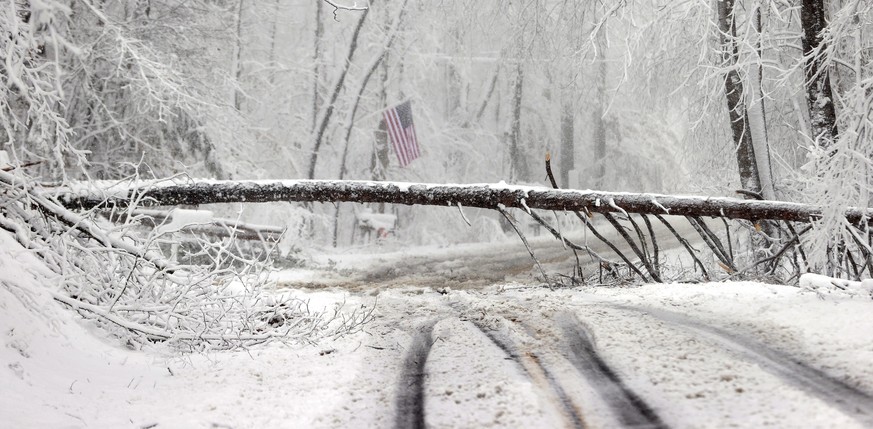
[[[658,241],[673,252],[679,243],[666,234]],[[531,246],[550,273],[572,269],[555,240]],[[369,425],[873,427],[873,352],[852,352],[873,347],[873,323],[847,311],[843,324],[858,334],[832,335],[806,318],[840,310],[795,288],[548,290],[515,242],[348,259],[319,281],[287,285],[376,299],[356,351],[363,369],[337,422],[380,410]],[[867,301],[840,305],[856,304],[869,314]]]

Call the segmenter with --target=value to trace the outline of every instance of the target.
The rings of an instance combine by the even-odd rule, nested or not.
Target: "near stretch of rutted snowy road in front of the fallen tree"
[[[679,297],[646,302],[665,290]],[[391,291],[377,324],[408,338],[375,335],[365,353],[403,362],[383,395],[395,398],[397,427],[873,426],[873,342],[855,331],[873,323],[855,320],[840,335],[783,318],[810,298],[796,292],[754,283]],[[816,314],[831,306],[814,300]],[[841,307],[856,305],[869,309]]]

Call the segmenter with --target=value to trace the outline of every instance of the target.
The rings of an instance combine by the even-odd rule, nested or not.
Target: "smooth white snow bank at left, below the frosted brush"
[[[355,384],[368,372],[354,353],[360,335],[209,355],[131,350],[55,302],[53,284],[0,231],[0,427],[336,427],[348,417],[340,408],[369,382]],[[312,310],[358,302],[341,292],[283,293]],[[358,403],[370,404],[359,410],[367,421],[390,417],[390,407]]]

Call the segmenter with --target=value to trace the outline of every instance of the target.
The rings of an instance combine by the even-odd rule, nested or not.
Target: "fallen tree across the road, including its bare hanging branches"
[[[546,170],[551,177],[549,159]],[[556,183],[552,181],[556,188]],[[724,197],[678,196],[649,193],[602,192],[592,190],[564,190],[545,187],[514,186],[499,184],[441,185],[403,182],[334,181],[334,180],[286,180],[286,181],[213,181],[187,180],[161,182],[92,182],[87,187],[56,189],[54,195],[71,209],[116,210],[125,207],[202,205],[216,203],[262,203],[262,202],[354,202],[390,203],[403,205],[427,205],[449,207],[477,207],[498,210],[507,215],[507,208],[518,208],[544,226],[565,246],[574,252],[582,250],[600,261],[602,267],[614,267],[615,261],[597,254],[586,245],[567,240],[555,228],[548,225],[533,209],[569,211],[577,215],[597,239],[607,244],[620,258],[621,263],[643,281],[661,282],[658,244],[648,216],[663,223],[682,243],[683,247],[700,268],[704,278],[710,273],[698,257],[698,251],[664,219],[662,215],[685,217],[717,258],[716,264],[731,276],[757,273],[772,276],[779,267],[781,257],[791,250],[789,258],[796,278],[811,267],[808,266],[800,236],[792,223],[812,224],[823,216],[823,207],[783,201],[761,199],[736,199]],[[756,198],[760,196],[754,195]],[[621,241],[626,242],[632,256],[617,247],[601,234],[589,221],[592,213],[600,213],[616,230]],[[643,227],[631,215],[638,215]],[[844,211],[847,225],[853,233],[866,237],[873,209],[848,208]],[[758,260],[738,264],[731,248],[730,228],[725,221],[724,235],[712,231],[703,217],[734,219],[753,235],[760,235],[780,249],[775,254],[765,254]],[[624,222],[622,224],[621,222]],[[761,221],[784,223],[784,232],[769,236],[762,231]],[[627,226],[625,226],[627,225]],[[742,226],[745,225],[745,226]],[[782,229],[782,227],[779,227]],[[857,230],[857,231],[856,231]],[[809,231],[809,228],[803,230]],[[524,239],[520,230],[516,232]],[[648,234],[646,234],[648,232]],[[635,235],[635,237],[632,237]],[[648,238],[647,238],[648,235]],[[783,238],[780,238],[783,237]],[[787,240],[787,241],[786,241]],[[649,242],[650,241],[650,242]],[[860,278],[865,271],[873,272],[873,250],[859,238],[855,256],[847,249],[838,263],[847,275]],[[528,248],[528,250],[531,250]],[[531,251],[531,256],[536,257]],[[763,259],[762,259],[763,258]],[[578,260],[578,255],[577,255]],[[635,262],[639,261],[639,262]],[[766,267],[761,264],[766,262]],[[537,265],[539,263],[537,262]],[[763,268],[763,271],[762,271]],[[545,278],[545,274],[543,275]],[[574,275],[575,281],[575,275]]]

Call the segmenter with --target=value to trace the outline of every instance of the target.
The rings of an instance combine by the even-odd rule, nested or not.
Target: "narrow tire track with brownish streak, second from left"
[[[474,322],[473,325],[488,337],[494,345],[503,350],[531,381],[539,382],[538,384],[540,385],[547,384],[551,388],[561,404],[561,415],[567,422],[568,427],[575,429],[585,429],[588,427],[585,424],[585,419],[582,417],[582,412],[573,404],[567,392],[558,384],[554,375],[543,365],[535,353],[519,353],[518,347],[506,335],[498,335],[494,331],[483,327],[480,323]],[[529,368],[529,366],[533,366],[533,368]],[[543,380],[545,383],[542,382]]]

